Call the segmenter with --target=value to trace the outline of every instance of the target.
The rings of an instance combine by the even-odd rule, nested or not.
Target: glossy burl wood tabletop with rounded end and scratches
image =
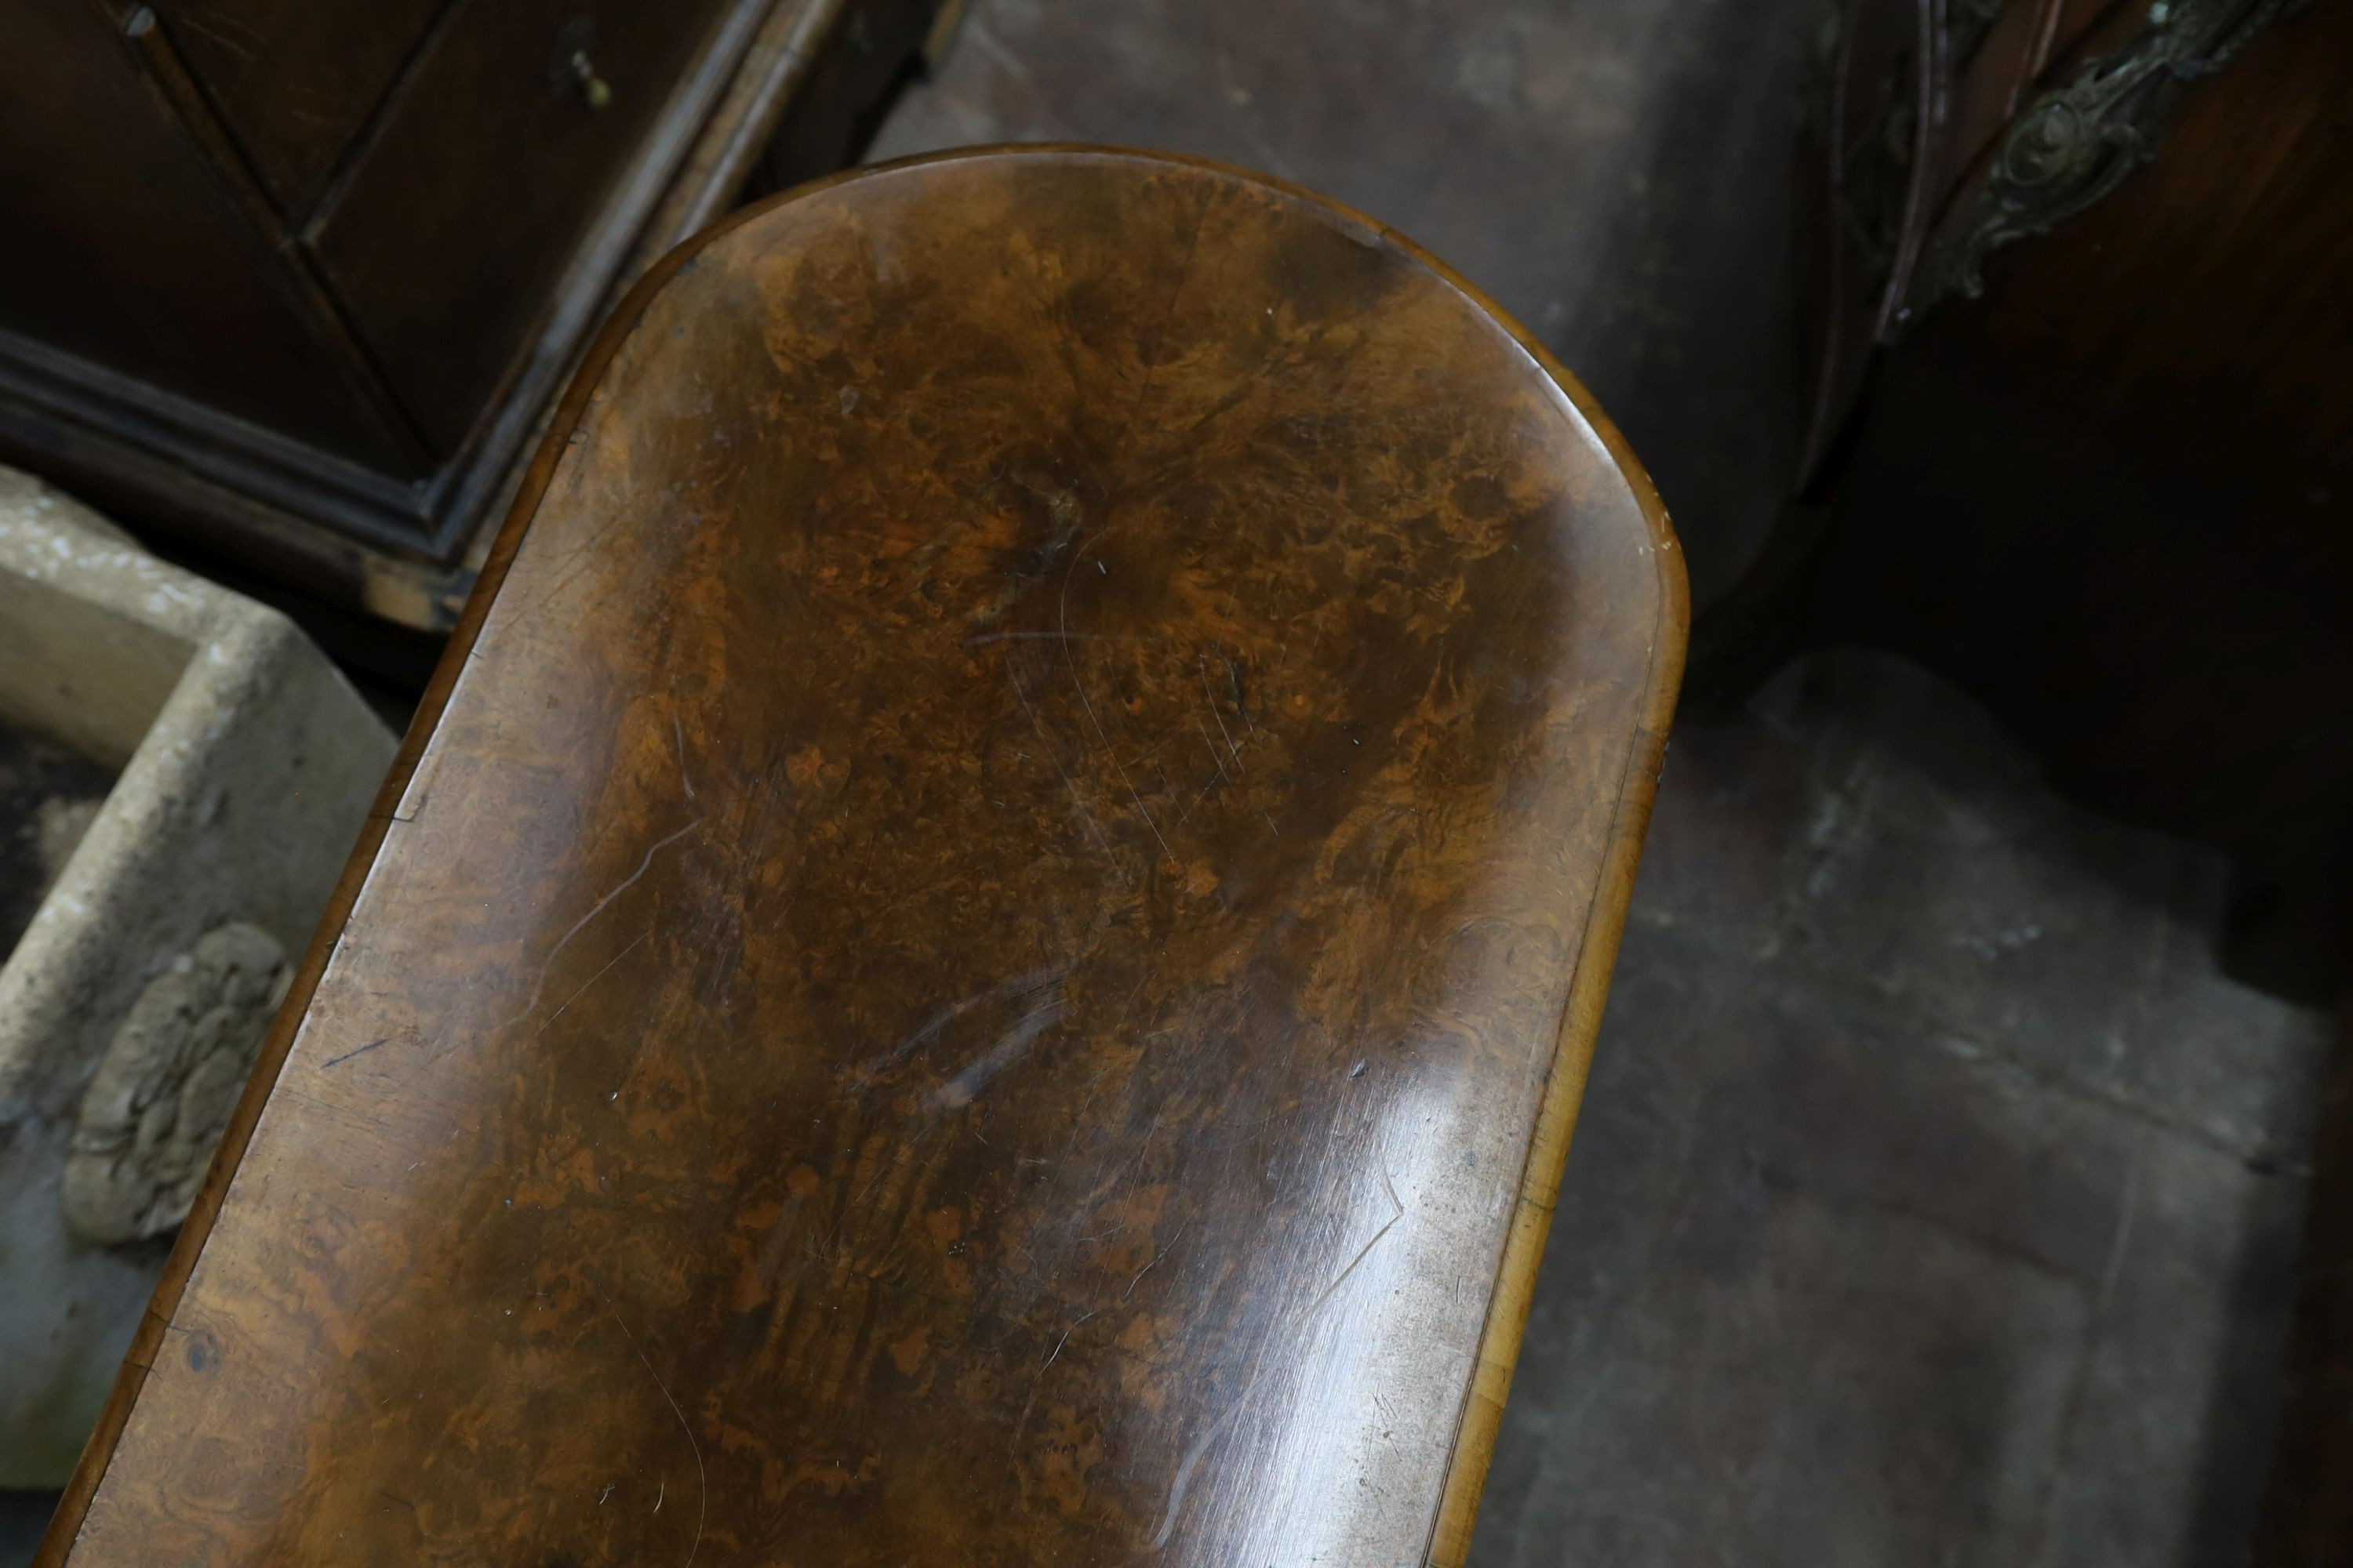
[[[1459,1561],[1682,651],[1395,235],[805,188],[539,458],[45,1563]]]

